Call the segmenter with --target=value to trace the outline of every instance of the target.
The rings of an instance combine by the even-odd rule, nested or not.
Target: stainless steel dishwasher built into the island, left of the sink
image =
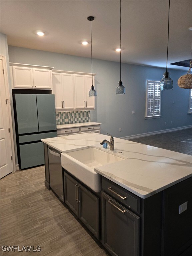
[[[48,146],[50,187],[64,202],[63,171],[61,166],[61,152]]]

